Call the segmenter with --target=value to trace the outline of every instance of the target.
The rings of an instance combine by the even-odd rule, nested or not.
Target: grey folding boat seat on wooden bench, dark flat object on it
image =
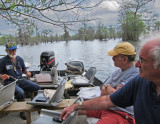
[[[66,79],[63,79],[51,98],[48,98],[45,96],[44,90],[39,90],[38,94],[33,98],[33,100],[28,101],[27,104],[50,106],[50,107],[58,106],[61,103],[63,98],[65,82],[66,82]]]

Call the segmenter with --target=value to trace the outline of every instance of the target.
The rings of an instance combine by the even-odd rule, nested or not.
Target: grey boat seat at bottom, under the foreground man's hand
[[[80,101],[83,101],[82,98],[78,97],[77,100],[74,103],[78,103]],[[73,104],[74,104],[73,103]],[[52,110],[46,110],[42,109],[40,117],[32,122],[32,124],[75,124],[78,116],[78,111],[72,112],[64,121],[57,122],[55,119],[60,119],[61,112],[59,111],[52,111]]]

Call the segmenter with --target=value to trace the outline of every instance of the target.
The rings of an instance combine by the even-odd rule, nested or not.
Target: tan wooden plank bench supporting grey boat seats
[[[48,110],[58,110],[63,109],[71,104],[73,104],[76,99],[63,99],[63,101],[56,107],[44,107],[26,104],[26,102],[13,102],[10,106],[4,108],[0,113],[10,113],[10,112],[25,112],[26,113],[26,123],[31,124],[31,112],[40,111],[43,109]]]

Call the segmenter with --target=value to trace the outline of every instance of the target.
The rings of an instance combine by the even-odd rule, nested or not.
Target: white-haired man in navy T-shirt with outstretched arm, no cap
[[[104,110],[115,106],[134,106],[136,124],[160,123],[160,37],[145,43],[136,63],[140,74],[111,95],[73,104],[61,113],[61,119],[75,110]]]

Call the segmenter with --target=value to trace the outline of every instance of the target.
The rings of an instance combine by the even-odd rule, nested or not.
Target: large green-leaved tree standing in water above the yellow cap
[[[152,10],[146,9],[146,5],[154,0],[121,1],[119,22],[122,28],[123,41],[138,41],[141,33],[150,32],[155,20],[151,19]],[[154,16],[153,16],[154,17]],[[149,23],[152,20],[152,24]],[[154,20],[154,21],[153,21]]]

